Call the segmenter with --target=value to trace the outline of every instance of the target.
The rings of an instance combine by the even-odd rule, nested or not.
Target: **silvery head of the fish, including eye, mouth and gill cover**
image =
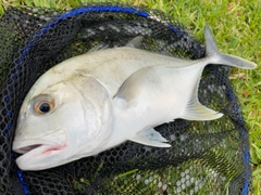
[[[20,110],[13,151],[22,170],[41,170],[98,154],[112,130],[111,100],[92,77],[32,88]]]

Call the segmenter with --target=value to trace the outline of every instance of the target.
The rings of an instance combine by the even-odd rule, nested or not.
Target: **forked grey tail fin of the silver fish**
[[[207,48],[206,54],[207,57],[210,57],[209,64],[223,64],[244,69],[253,69],[257,67],[257,64],[245,58],[221,53],[208,25],[204,27],[204,39]]]

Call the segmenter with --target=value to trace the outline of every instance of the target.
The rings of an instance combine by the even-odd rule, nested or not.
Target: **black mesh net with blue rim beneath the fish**
[[[92,4],[66,13],[10,8],[0,20],[0,194],[248,194],[248,129],[228,80],[229,68],[209,65],[200,102],[224,117],[157,127],[172,144],[126,142],[97,156],[42,171],[22,171],[11,150],[22,102],[47,69],[104,42],[124,46],[144,36],[142,49],[184,58],[204,46],[176,20],[156,10]]]

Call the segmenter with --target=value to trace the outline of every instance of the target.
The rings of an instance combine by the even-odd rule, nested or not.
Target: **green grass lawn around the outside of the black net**
[[[1,0],[0,15],[9,5],[48,6],[67,10],[85,0]],[[151,9],[159,9],[187,26],[203,40],[203,27],[212,28],[221,51],[259,64],[254,70],[234,68],[232,79],[243,105],[250,130],[253,194],[261,194],[261,1],[260,0],[123,0]]]

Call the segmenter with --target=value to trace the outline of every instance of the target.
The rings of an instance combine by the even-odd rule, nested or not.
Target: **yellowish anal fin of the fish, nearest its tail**
[[[186,110],[182,118],[187,120],[213,120],[221,118],[222,116],[222,113],[217,113],[200,104],[198,99],[195,96],[187,104]]]

